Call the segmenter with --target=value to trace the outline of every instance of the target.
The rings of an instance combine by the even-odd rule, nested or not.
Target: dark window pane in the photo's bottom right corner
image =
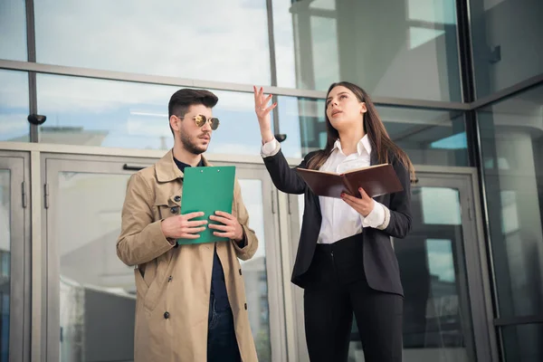
[[[543,360],[543,324],[524,324],[501,329],[505,360],[539,362]]]

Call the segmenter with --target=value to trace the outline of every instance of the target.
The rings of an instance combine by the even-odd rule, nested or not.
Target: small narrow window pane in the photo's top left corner
[[[25,9],[24,0],[0,1],[0,59],[27,60]]]

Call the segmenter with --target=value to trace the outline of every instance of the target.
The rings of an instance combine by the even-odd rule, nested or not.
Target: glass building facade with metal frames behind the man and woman
[[[173,146],[184,87],[219,97],[209,158],[236,165],[261,240],[242,264],[259,360],[308,360],[303,201],[262,165],[252,85],[294,166],[324,146],[335,81],[369,92],[417,170],[393,241],[405,361],[543,360],[542,19],[540,0],[0,1],[0,362],[132,360],[120,208]]]

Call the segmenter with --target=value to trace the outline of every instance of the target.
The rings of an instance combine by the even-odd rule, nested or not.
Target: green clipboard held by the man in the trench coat
[[[181,195],[181,214],[203,212],[204,216],[191,220],[207,220],[208,224],[217,224],[209,220],[215,211],[232,214],[233,183],[235,166],[186,167]],[[197,239],[177,239],[177,243],[215,243],[229,239],[215,236],[214,229],[205,227]]]

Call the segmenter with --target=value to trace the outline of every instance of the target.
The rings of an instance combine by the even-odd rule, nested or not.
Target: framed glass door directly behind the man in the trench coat
[[[47,360],[133,359],[134,274],[119,261],[115,245],[129,176],[155,161],[43,156]],[[279,252],[272,243],[271,181],[263,167],[236,165],[236,176],[260,241],[254,257],[241,262],[253,337],[259,360],[281,360],[282,294],[274,271]]]

